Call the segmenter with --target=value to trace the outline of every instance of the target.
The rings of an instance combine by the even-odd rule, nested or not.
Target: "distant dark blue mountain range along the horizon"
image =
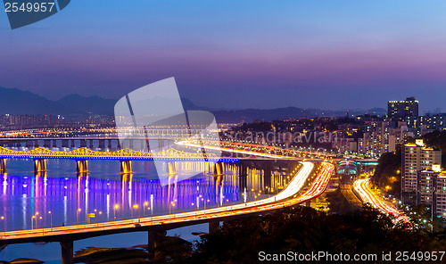
[[[113,114],[114,104],[117,100],[103,99],[99,96],[84,97],[81,95],[67,95],[57,101],[46,99],[43,96],[19,89],[0,87],[0,114]],[[186,110],[212,111],[219,123],[238,123],[252,120],[275,120],[301,117],[341,117],[349,114],[376,114],[383,116],[387,113],[382,108],[374,108],[368,111],[325,111],[319,109],[301,109],[297,107],[285,107],[277,109],[240,109],[240,110],[212,110],[200,107],[190,100],[183,98],[183,106]]]

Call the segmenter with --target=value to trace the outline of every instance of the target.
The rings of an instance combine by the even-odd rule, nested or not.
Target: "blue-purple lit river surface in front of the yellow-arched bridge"
[[[51,220],[53,227],[57,227],[86,223],[87,213],[92,212],[96,218],[91,221],[96,222],[113,220],[115,215],[116,219],[130,219],[132,214],[137,218],[195,210],[196,198],[200,196],[208,207],[239,200],[235,176],[215,181],[214,177],[201,175],[180,182],[171,177],[169,186],[161,186],[157,178],[136,175],[114,178],[45,175],[0,175],[0,215],[5,216],[7,230],[35,226],[36,222],[31,223],[32,216],[37,217],[37,227],[50,227]],[[204,204],[200,202],[202,208]]]

